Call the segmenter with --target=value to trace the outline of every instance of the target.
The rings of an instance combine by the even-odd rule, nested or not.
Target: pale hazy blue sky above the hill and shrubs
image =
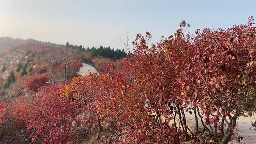
[[[0,37],[123,48],[119,37],[127,32],[133,40],[149,31],[157,42],[183,19],[194,32],[249,16],[256,17],[256,0],[0,0]]]

